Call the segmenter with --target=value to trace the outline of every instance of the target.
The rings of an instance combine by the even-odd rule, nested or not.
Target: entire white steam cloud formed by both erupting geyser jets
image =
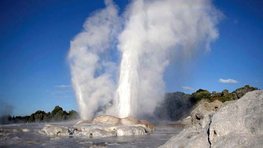
[[[207,0],[132,1],[122,15],[112,1],[105,5],[71,41],[68,59],[81,117],[92,118],[102,106],[119,117],[151,115],[165,93],[170,53],[190,57],[203,46],[210,50],[221,13]]]

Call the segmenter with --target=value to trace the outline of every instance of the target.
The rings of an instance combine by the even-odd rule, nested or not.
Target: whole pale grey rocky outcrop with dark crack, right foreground
[[[263,91],[218,105],[200,105],[191,113],[193,125],[160,147],[263,147]]]

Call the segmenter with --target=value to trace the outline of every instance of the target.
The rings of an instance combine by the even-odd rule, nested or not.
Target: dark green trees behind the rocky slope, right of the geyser
[[[232,93],[228,90],[222,92],[213,91],[210,93],[207,90],[199,89],[192,94],[185,94],[183,92],[166,93],[162,104],[156,108],[154,117],[159,121],[177,121],[190,115],[193,107],[201,100],[213,102],[215,100],[226,102],[238,100],[247,92],[258,90],[255,87],[245,85],[236,89]]]

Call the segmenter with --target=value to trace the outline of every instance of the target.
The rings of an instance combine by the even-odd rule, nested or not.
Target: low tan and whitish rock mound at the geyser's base
[[[48,135],[125,136],[146,135],[154,130],[153,124],[135,117],[117,118],[101,115],[91,120],[79,120],[75,126],[46,125],[39,133]]]

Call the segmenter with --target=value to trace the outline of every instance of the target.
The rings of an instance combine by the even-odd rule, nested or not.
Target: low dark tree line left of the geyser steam
[[[30,123],[30,122],[59,122],[74,120],[79,118],[78,112],[71,110],[69,112],[64,111],[62,107],[55,106],[52,112],[46,113],[45,111],[38,110],[35,113],[32,113],[30,116],[11,116],[11,115],[2,115],[0,117],[1,124],[10,124],[10,123]]]

